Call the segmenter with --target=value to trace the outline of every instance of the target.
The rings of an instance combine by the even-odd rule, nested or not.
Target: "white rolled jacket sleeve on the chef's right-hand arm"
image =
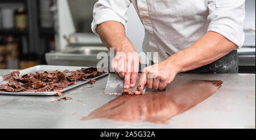
[[[245,41],[245,0],[208,0],[208,31],[220,33],[241,48]]]

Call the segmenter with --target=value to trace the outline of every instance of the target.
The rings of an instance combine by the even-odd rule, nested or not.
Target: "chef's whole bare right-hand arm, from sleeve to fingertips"
[[[163,90],[177,73],[212,63],[236,48],[237,45],[224,36],[210,31],[187,49],[180,50],[154,66],[145,67],[138,85],[142,85],[141,89],[147,84],[148,88]],[[148,78],[148,74],[153,74],[154,78]]]

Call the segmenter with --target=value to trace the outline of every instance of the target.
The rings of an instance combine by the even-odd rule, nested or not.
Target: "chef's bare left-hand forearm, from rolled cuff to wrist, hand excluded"
[[[96,31],[102,40],[102,43],[109,49],[113,47],[115,52],[121,52],[124,49],[135,50],[125,35],[125,28],[119,22],[108,21],[97,26]]]

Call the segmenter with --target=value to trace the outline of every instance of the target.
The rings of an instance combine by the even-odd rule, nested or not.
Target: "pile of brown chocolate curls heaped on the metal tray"
[[[70,73],[69,75],[67,73]],[[66,76],[67,74],[67,76]],[[9,81],[0,86],[0,92],[48,92],[55,91],[62,96],[60,90],[76,84],[77,80],[85,81],[86,78],[98,77],[104,72],[98,72],[97,67],[82,68],[76,71],[64,70],[44,71],[43,73],[25,74],[19,76],[19,71],[14,70],[11,74],[3,76],[3,80]],[[95,81],[94,81],[95,82]]]

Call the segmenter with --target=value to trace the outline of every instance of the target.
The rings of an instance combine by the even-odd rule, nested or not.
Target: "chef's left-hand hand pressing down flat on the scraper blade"
[[[119,49],[112,60],[112,69],[119,77],[124,78],[123,88],[135,87],[141,59],[131,43]]]

